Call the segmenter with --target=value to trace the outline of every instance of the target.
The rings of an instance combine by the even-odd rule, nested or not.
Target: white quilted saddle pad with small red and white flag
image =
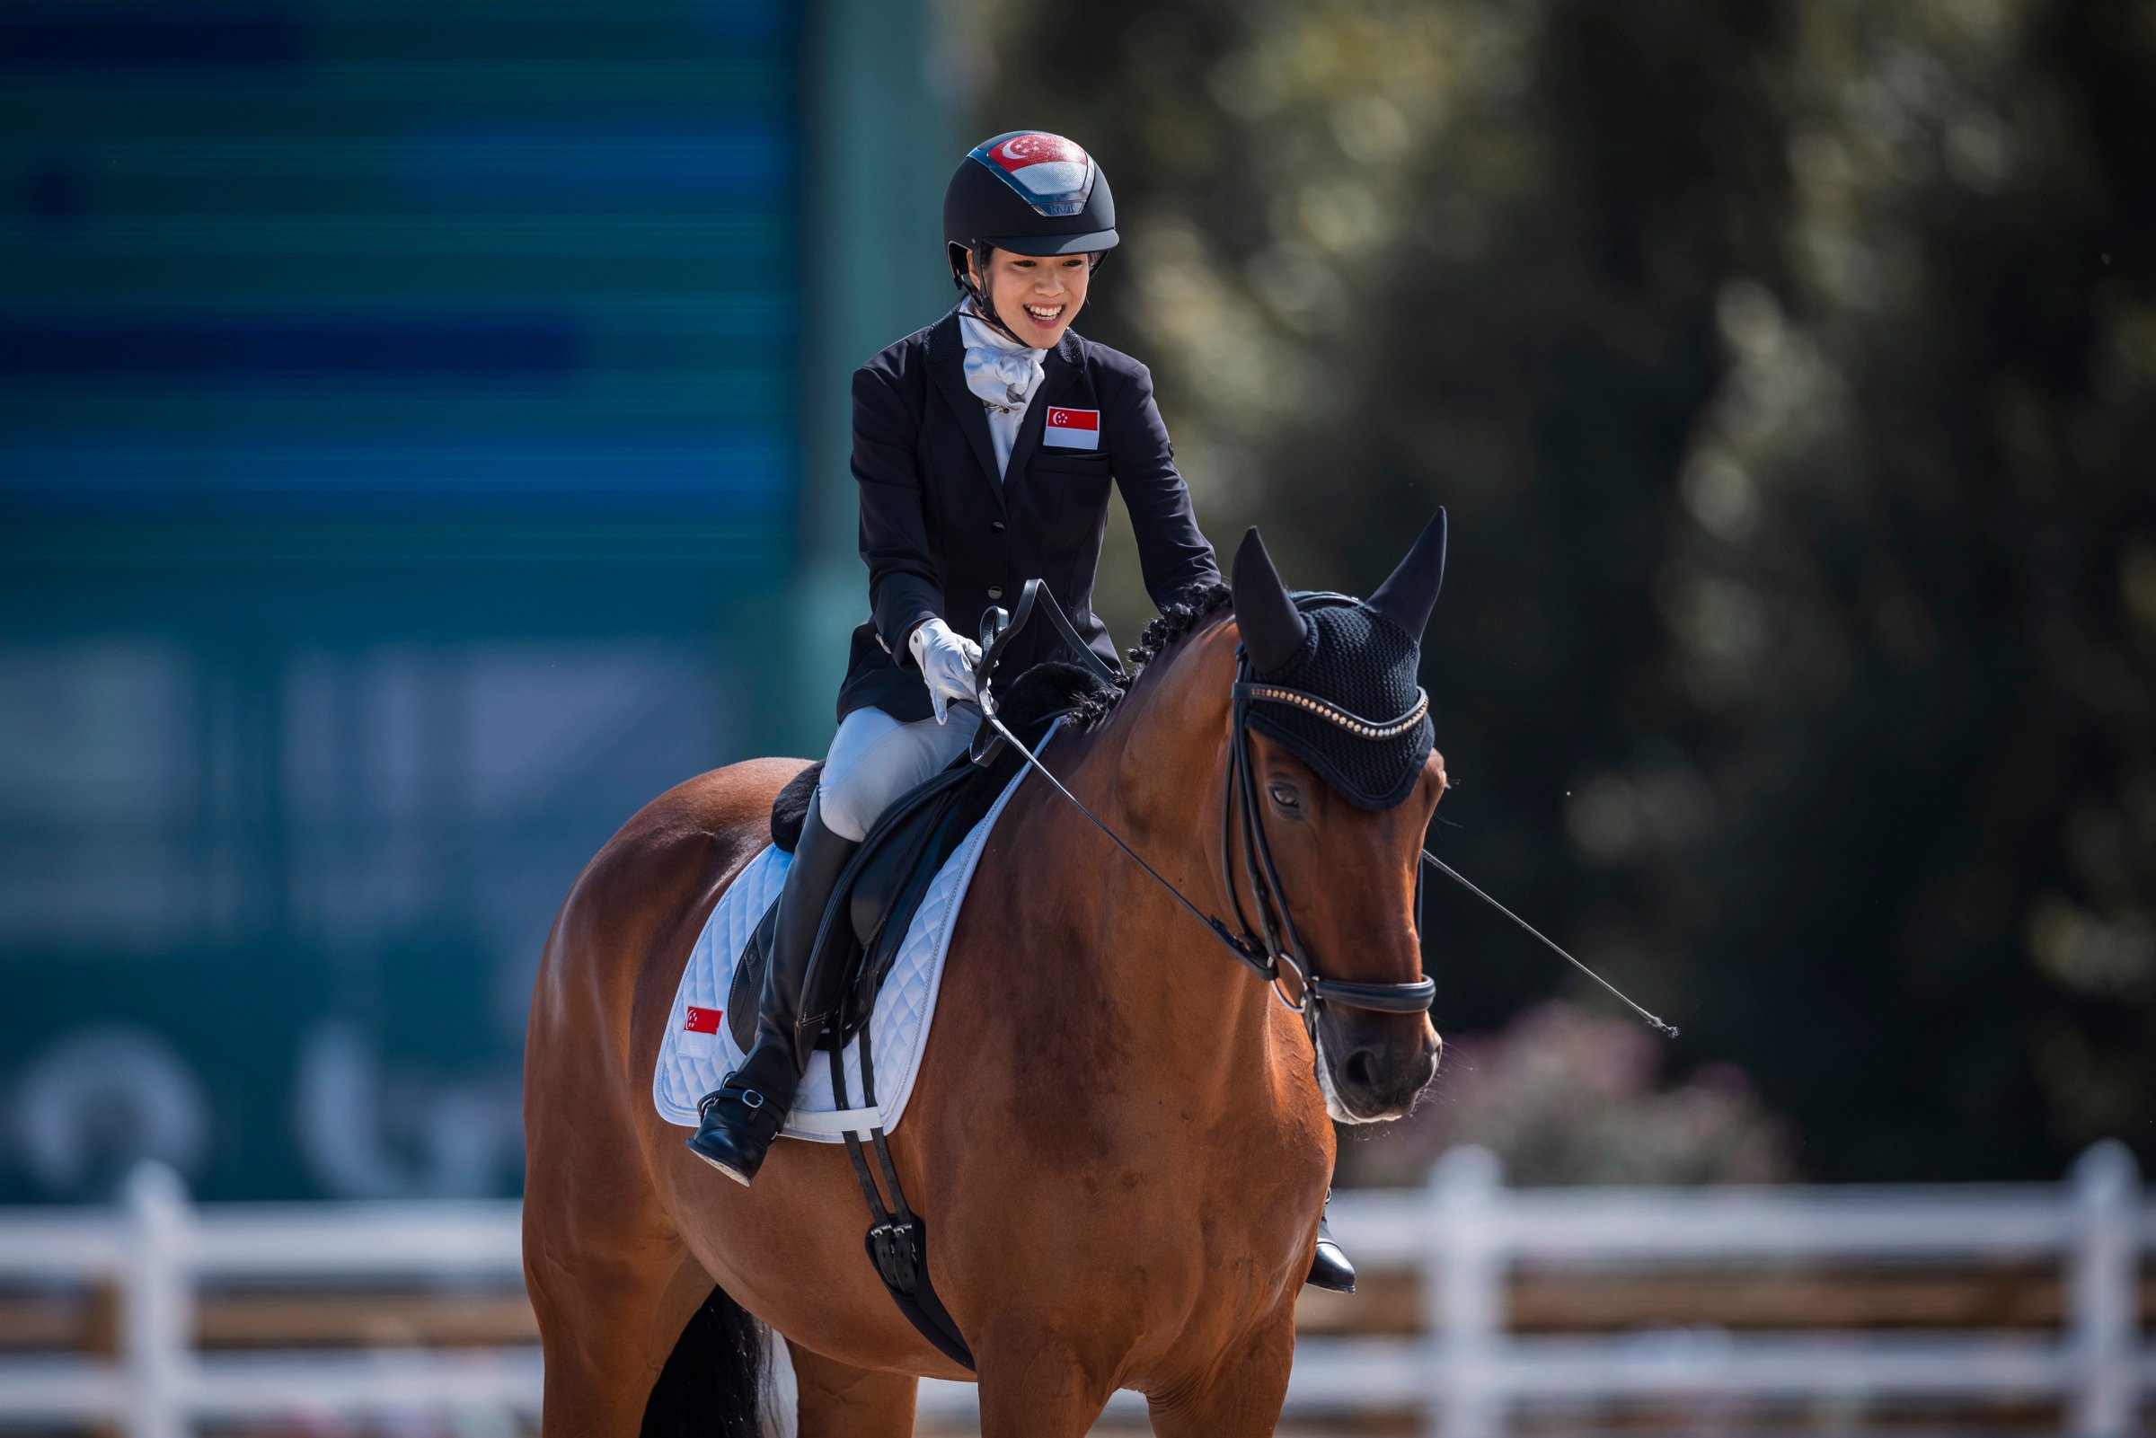
[[[1024,778],[1026,772],[1020,770],[996,796],[987,815],[951,852],[906,929],[899,957],[890,966],[884,992],[875,998],[875,1013],[869,1015],[877,1106],[841,1110],[832,1102],[830,1054],[817,1052],[808,1061],[793,1115],[780,1130],[789,1138],[841,1143],[847,1132],[867,1134],[871,1128],[888,1132],[899,1125],[906,1100],[914,1093],[914,1076],[921,1071],[921,1052],[927,1048],[936,990],[942,985],[944,955],[951,951],[951,929],[957,927],[966,884],[972,882],[972,869],[981,862],[996,817]],[[778,897],[791,862],[791,854],[768,845],[748,860],[696,936],[696,949],[688,957],[666,1018],[660,1063],[651,1076],[651,1102],[668,1123],[694,1128],[696,1100],[724,1082],[746,1059],[727,1026],[727,994],[733,985],[733,966],[742,962],[748,936]],[[860,1039],[845,1048],[845,1084],[847,1097],[860,1104]]]

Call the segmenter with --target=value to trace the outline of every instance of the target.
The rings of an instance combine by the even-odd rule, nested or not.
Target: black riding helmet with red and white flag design
[[[966,272],[968,257],[985,276],[990,250],[1100,257],[1115,244],[1115,196],[1108,194],[1108,177],[1091,155],[1046,129],[1013,129],[981,140],[957,162],[957,172],[944,190],[944,254],[951,261],[951,278],[972,298],[987,323],[1005,334],[1011,334],[1011,328],[972,282]]]

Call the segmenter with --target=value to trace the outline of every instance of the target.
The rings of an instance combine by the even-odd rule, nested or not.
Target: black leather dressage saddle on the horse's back
[[[1037,748],[1056,718],[1102,703],[1112,688],[1089,668],[1046,660],[998,694],[996,714],[1026,748]],[[849,981],[839,1009],[824,1015],[817,1048],[845,1048],[869,1022],[875,996],[890,977],[899,944],[906,942],[929,882],[1018,774],[1022,757],[1009,746],[977,748],[987,763],[959,755],[940,774],[899,796],[839,875],[830,908],[824,910],[811,966],[839,964]],[[811,763],[772,802],[772,843],[787,854],[800,841],[808,796],[815,793],[821,774],[824,763]],[[744,1052],[757,1039],[757,998],[763,992],[776,923],[774,899],[742,949],[742,962],[735,964],[733,985],[727,992],[727,1026]],[[813,994],[817,985],[808,983],[804,990]]]

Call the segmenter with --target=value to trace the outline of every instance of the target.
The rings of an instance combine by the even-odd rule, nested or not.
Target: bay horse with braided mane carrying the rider
[[[1442,552],[1440,511],[1369,606],[1328,597],[1419,608],[1410,688]],[[1244,649],[1307,655],[1313,623],[1257,530],[1233,573],[1169,606],[1123,699],[1041,750],[1069,796],[1018,785],[951,938],[890,1151],[975,1375],[877,1281],[843,1147],[780,1140],[742,1188],[651,1104],[688,953],[802,761],[692,778],[582,871],[548,936],[524,1061],[548,1438],[755,1434],[759,1322],[787,1339],[802,1438],[910,1434],[921,1375],[977,1378],[985,1438],[1076,1438],[1117,1388],[1147,1397],[1156,1434],[1274,1429],[1332,1173],[1328,1115],[1399,1117],[1436,1071],[1414,908],[1445,761],[1421,729],[1406,798],[1367,808],[1294,744],[1240,735]],[[1238,770],[1255,841],[1225,821]],[[1300,966],[1253,977],[1166,886],[1210,912],[1291,910]],[[1412,1011],[1311,1003],[1416,987]]]

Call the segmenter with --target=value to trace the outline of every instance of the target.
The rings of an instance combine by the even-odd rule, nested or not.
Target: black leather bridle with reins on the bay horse
[[[1287,912],[1287,895],[1281,888],[1281,873],[1272,862],[1272,845],[1266,841],[1266,821],[1257,808],[1257,776],[1250,763],[1250,705],[1253,703],[1276,703],[1294,705],[1307,714],[1315,714],[1332,724],[1339,724],[1348,733],[1360,739],[1388,739],[1404,729],[1410,729],[1423,720],[1429,709],[1429,694],[1416,690],[1414,707],[1393,720],[1365,720],[1358,714],[1341,709],[1328,699],[1309,694],[1304,690],[1291,690],[1279,683],[1259,683],[1250,679],[1250,658],[1235,647],[1235,686],[1231,692],[1233,703],[1229,707],[1229,768],[1227,768],[1227,793],[1220,804],[1220,877],[1227,886],[1229,908],[1235,914],[1235,929],[1231,931],[1220,918],[1199,910],[1175,884],[1160,875],[1145,858],[1123,843],[1121,834],[1102,824],[1091,808],[1087,808],[1078,796],[1063,787],[1054,774],[1048,772],[1024,744],[1018,742],[1003,720],[996,718],[996,699],[990,692],[990,681],[996,673],[996,662],[1003,658],[1005,647],[1020,630],[1033,619],[1035,612],[1046,610],[1050,623],[1061,634],[1065,645],[1078,653],[1078,658],[1102,679],[1128,681],[1128,675],[1119,668],[1110,668],[1097,653],[1080,642],[1078,632],[1072,627],[1069,619],[1056,606],[1054,595],[1039,580],[1026,580],[1024,591],[1018,599],[1018,612],[1005,614],[1000,608],[990,608],[981,617],[981,664],[979,664],[979,694],[981,694],[981,733],[975,739],[975,763],[990,763],[1003,744],[1018,750],[1026,765],[1031,765],[1041,778],[1054,785],[1087,821],[1108,836],[1115,847],[1123,849],[1156,884],[1160,884],[1169,895],[1181,903],[1192,918],[1205,925],[1205,929],[1220,940],[1222,946],[1240,964],[1250,968],[1259,979],[1268,981],[1289,1009],[1302,1015],[1304,1024],[1315,1031],[1317,1013],[1326,1005],[1339,1005],[1343,1009],[1371,1009],[1376,1013],[1423,1013],[1429,1009],[1429,1000],[1436,998],[1438,985],[1427,974],[1414,983],[1354,983],[1348,979],[1324,979],[1311,966],[1309,955],[1302,949],[1302,940],[1296,934],[1296,921]],[[1235,849],[1235,832],[1242,830],[1242,871],[1250,886],[1250,895],[1257,905],[1257,927],[1250,931],[1250,921],[1242,908],[1242,890],[1235,884],[1233,860],[1229,854]],[[1414,877],[1416,912],[1421,912],[1421,865],[1416,865]],[[1300,987],[1298,996],[1287,994],[1281,970],[1296,977]]]

